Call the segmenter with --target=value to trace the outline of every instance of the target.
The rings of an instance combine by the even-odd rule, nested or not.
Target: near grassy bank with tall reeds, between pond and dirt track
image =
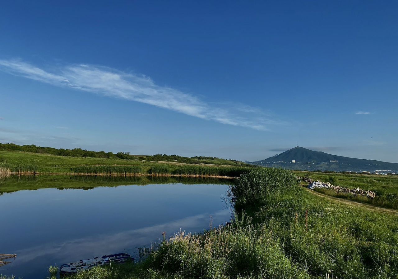
[[[396,278],[398,217],[314,196],[295,174],[258,169],[230,187],[236,221],[164,240],[139,264],[72,279]]]

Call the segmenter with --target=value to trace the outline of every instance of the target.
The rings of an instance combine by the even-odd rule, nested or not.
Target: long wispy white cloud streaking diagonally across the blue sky
[[[185,92],[159,86],[145,75],[125,73],[108,67],[67,65],[49,72],[20,60],[0,60],[0,69],[59,87],[70,87],[105,96],[150,104],[219,123],[268,130],[270,125],[282,124],[258,108],[239,105],[237,108],[212,105]]]

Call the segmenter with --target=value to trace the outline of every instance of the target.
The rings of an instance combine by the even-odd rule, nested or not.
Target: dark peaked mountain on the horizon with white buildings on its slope
[[[295,160],[295,163],[292,163],[293,160]],[[384,170],[384,173],[398,173],[398,163],[337,156],[322,151],[309,150],[300,146],[264,160],[249,162],[249,164],[301,170],[320,169],[328,171],[370,172]],[[383,173],[383,171],[381,171],[381,173]]]

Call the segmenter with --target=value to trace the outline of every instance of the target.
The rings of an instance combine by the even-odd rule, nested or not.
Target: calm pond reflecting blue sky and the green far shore
[[[45,278],[47,267],[138,247],[183,230],[225,224],[231,181],[151,177],[35,176],[0,179],[0,274]],[[211,216],[211,217],[210,217]]]

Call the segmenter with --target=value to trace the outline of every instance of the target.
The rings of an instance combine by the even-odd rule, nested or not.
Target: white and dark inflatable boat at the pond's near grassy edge
[[[105,264],[115,263],[122,264],[129,260],[134,260],[129,254],[117,253],[111,255],[104,255],[95,257],[88,260],[80,260],[77,262],[71,262],[69,264],[63,264],[59,267],[60,274],[74,274],[80,271],[88,270],[94,266],[103,266]]]

